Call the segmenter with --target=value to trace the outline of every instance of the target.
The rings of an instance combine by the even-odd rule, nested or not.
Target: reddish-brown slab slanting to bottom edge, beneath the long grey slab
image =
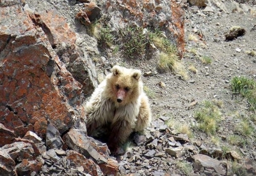
[[[69,150],[67,152],[67,159],[70,159],[72,162],[74,162],[77,167],[83,166],[85,173],[89,173],[93,176],[104,175],[101,172],[99,166],[96,165],[92,161],[92,159],[87,159],[85,158],[85,156],[83,156],[82,154],[79,154],[74,150]]]

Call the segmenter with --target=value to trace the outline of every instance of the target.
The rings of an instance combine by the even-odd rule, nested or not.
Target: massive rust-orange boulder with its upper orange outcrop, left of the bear
[[[18,5],[1,7],[0,13],[0,122],[17,136],[35,131],[44,137],[47,120],[60,133],[67,131],[76,114],[68,101],[79,96],[81,84],[61,66],[51,45],[72,45],[75,33],[54,11],[33,18],[46,35]]]

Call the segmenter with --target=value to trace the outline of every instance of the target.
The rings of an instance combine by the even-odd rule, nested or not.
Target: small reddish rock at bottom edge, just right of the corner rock
[[[18,175],[31,175],[32,172],[38,173],[42,168],[42,163],[38,161],[29,161],[23,159],[22,162],[15,166]]]

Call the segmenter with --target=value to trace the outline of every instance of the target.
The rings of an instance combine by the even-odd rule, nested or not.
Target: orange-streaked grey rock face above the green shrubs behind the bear
[[[106,4],[106,5],[105,5]],[[112,31],[127,26],[161,29],[177,44],[180,58],[184,52],[184,11],[171,1],[102,1],[102,11],[109,15]]]

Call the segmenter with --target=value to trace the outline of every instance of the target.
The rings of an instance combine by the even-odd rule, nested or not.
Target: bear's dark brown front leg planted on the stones
[[[132,133],[131,124],[125,120],[116,121],[111,125],[111,135],[108,140],[108,148],[113,153],[118,152],[118,147],[123,144]]]

